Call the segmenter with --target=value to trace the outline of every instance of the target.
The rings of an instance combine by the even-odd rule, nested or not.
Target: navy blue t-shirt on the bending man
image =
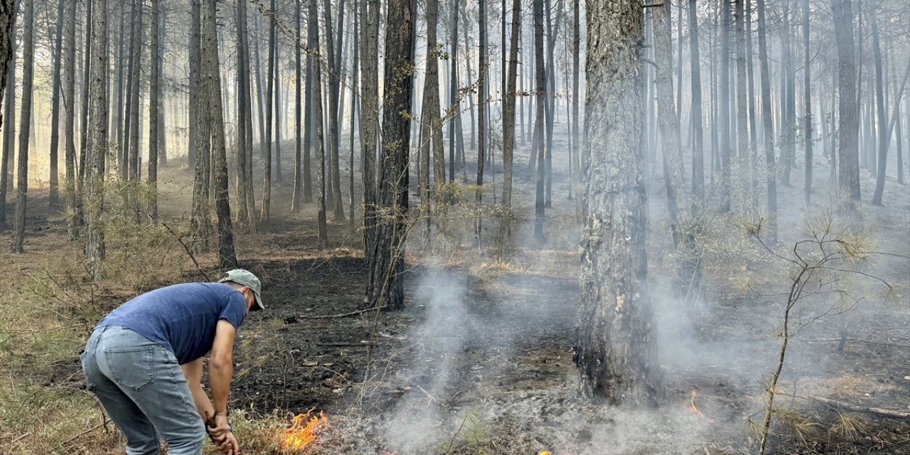
[[[206,355],[218,319],[235,329],[247,316],[247,301],[224,283],[183,283],[157,288],[111,311],[98,327],[123,326],[174,353],[183,365]]]

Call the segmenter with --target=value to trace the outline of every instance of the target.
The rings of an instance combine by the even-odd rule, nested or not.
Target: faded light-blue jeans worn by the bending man
[[[95,329],[81,356],[86,387],[126,436],[126,453],[198,455],[206,435],[187,379],[169,350],[119,326]]]

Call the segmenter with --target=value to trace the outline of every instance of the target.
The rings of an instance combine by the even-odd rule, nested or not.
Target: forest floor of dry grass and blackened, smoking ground
[[[527,160],[523,152],[517,162]],[[533,240],[532,217],[517,218],[508,245],[497,237],[496,218],[484,217],[482,248],[474,217],[452,217],[441,230],[434,221],[430,241],[409,244],[405,308],[379,314],[360,311],[369,277],[359,230],[331,222],[329,248],[319,248],[313,205],[288,213],[286,161],[270,220],[256,234],[236,237],[241,266],[262,278],[267,307],[250,314],[236,350],[231,408],[243,453],[281,453],[291,416],[308,410],[327,419],[312,453],[756,453],[749,421],[762,420],[766,381],[777,366],[775,333],[786,301],[778,293],[789,285],[789,270],[743,241],[738,219],[718,218],[716,230],[729,243],[718,243],[724,251],[705,261],[705,298],[689,303],[671,290],[662,181],[650,181],[649,294],[666,400],[657,410],[591,405],[578,396],[572,361],[579,232],[562,159],[554,163],[553,180],[560,183],[553,187],[545,242]],[[825,163],[816,166],[824,178]],[[515,211],[531,214],[533,177],[516,168],[522,170]],[[820,219],[830,205],[819,189],[820,202],[805,209],[797,174],[792,187],[779,187],[775,251],[782,254],[805,237],[804,223]],[[863,174],[867,199],[875,182]],[[162,217],[178,226],[189,207],[191,173],[166,167],[162,175]],[[497,185],[500,179],[495,174]],[[137,292],[214,278],[215,259],[201,255],[197,268],[166,234],[144,253],[109,248],[109,261],[117,261],[112,278],[87,284],[63,215],[46,208],[45,194],[30,195],[27,252],[5,256],[0,265],[12,278],[0,289],[0,376],[6,377],[0,378],[0,447],[122,453],[113,425],[82,390],[82,343],[97,319]],[[875,238],[872,249],[899,256],[875,257],[862,270],[902,295],[885,301],[856,284],[864,298],[842,315],[818,317],[817,301],[794,309],[794,320],[814,320],[789,340],[769,453],[910,454],[910,420],[838,413],[817,400],[910,412],[907,187],[889,181],[885,204],[864,204],[864,225]],[[415,227],[412,238],[420,232]],[[0,245],[9,238],[8,227],[0,231]],[[841,329],[847,333],[842,351]]]

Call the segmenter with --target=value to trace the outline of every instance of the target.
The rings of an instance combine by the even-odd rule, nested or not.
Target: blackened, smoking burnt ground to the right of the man
[[[187,178],[171,171],[175,180]],[[565,181],[554,171],[556,181]],[[262,278],[268,309],[252,313],[240,330],[232,408],[262,416],[324,410],[332,431],[318,451],[329,454],[757,452],[748,420],[761,419],[764,384],[776,366],[784,297],[773,291],[780,277],[768,271],[766,258],[744,266],[715,263],[706,267],[703,304],[683,305],[682,296],[666,290],[671,272],[659,179],[649,186],[657,220],[649,274],[666,390],[657,410],[594,406],[578,397],[572,362],[578,229],[565,186],[554,187],[545,243],[531,240],[532,220],[519,223],[516,239],[504,247],[472,247],[465,234],[470,220],[452,222],[468,227],[449,226],[448,237],[429,246],[413,242],[405,308],[377,315],[360,312],[368,275],[359,232],[333,222],[329,248],[320,249],[313,207],[275,214],[274,207],[287,205],[287,180],[276,187],[270,221],[255,235],[238,236],[241,265]],[[532,188],[530,175],[516,180],[515,187]],[[871,194],[874,181],[865,171],[863,185],[864,195]],[[780,188],[781,231],[789,233],[782,244],[802,235],[801,187],[794,181]],[[173,215],[188,207],[187,191],[163,195]],[[519,211],[531,213],[528,194],[516,201]],[[907,188],[890,181],[885,201],[893,203],[864,206],[864,221],[877,250],[907,255]],[[65,243],[56,217],[39,213],[28,222],[33,248]],[[735,222],[723,223],[735,229]],[[483,237],[495,232],[495,220],[487,218]],[[182,269],[187,280],[201,278]],[[775,403],[799,413],[787,414],[795,425],[773,426],[769,453],[910,453],[908,420],[867,413],[844,420],[813,400],[910,411],[910,304],[903,291],[910,261],[879,258],[865,270],[900,285],[903,296],[885,303],[870,293],[846,316],[814,321],[791,340]],[[755,278],[757,292],[734,289],[742,276]],[[118,301],[112,296],[102,306]],[[838,351],[841,327],[848,340]],[[76,370],[63,366],[58,376],[77,381]],[[693,402],[702,415],[690,410]]]

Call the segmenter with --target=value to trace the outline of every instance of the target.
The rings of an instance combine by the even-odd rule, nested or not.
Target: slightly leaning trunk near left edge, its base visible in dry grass
[[[28,135],[32,127],[32,82],[35,75],[35,1],[22,3],[22,107],[19,119],[19,157],[16,160],[15,218],[10,250],[23,252],[25,204],[28,197]]]

